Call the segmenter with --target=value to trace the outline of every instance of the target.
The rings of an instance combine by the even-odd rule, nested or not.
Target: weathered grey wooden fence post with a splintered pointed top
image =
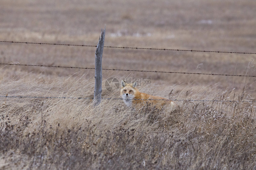
[[[99,42],[95,51],[95,85],[94,85],[94,98],[93,103],[94,106],[97,106],[101,102],[101,92],[102,92],[102,54],[104,47],[104,39],[105,39],[105,29],[102,31],[99,37]]]

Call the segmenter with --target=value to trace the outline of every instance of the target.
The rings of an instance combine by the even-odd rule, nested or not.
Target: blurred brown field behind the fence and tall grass
[[[2,1],[2,41],[255,53],[255,1]],[[1,63],[94,67],[95,47],[1,43]],[[255,54],[104,48],[103,68],[255,75]],[[47,80],[94,70],[6,66],[1,79],[41,73]],[[255,78],[103,71],[153,83],[219,89],[254,87]],[[243,82],[243,84],[241,84]],[[252,90],[250,88],[250,90]]]

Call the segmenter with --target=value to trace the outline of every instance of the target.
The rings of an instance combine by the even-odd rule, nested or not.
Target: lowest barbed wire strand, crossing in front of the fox
[[[25,98],[44,98],[44,99],[90,99],[93,100],[93,98],[90,97],[38,97],[38,96],[0,96],[1,98],[19,98],[19,99],[25,99]],[[124,100],[122,98],[102,98],[103,100]],[[194,102],[256,102],[255,99],[249,99],[252,101],[243,101],[243,100],[170,100],[170,99],[128,99],[128,100],[162,100],[162,101],[194,101]]]

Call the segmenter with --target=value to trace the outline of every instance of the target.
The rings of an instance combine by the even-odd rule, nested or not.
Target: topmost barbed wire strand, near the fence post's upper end
[[[4,43],[22,43],[22,44],[40,44],[40,45],[63,45],[63,46],[87,46],[97,47],[96,45],[78,45],[78,44],[57,44],[57,43],[36,43],[36,42],[18,42],[18,41],[0,41]],[[209,50],[186,50],[186,49],[160,49],[160,48],[141,48],[141,47],[120,47],[120,46],[104,46],[106,48],[122,48],[122,49],[149,49],[149,50],[169,50],[169,51],[187,51],[187,52],[215,52],[215,53],[234,53],[234,54],[256,54],[252,52],[227,52],[227,51],[209,51]]]

